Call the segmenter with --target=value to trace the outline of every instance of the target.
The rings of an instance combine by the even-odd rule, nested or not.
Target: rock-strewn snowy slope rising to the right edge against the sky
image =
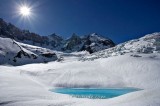
[[[135,57],[139,57],[138,54],[140,53],[160,53],[160,32],[147,34],[139,39],[130,40],[113,48],[105,49],[91,55],[84,56],[82,60],[107,58],[111,56],[124,55],[126,53],[135,54],[132,55]]]

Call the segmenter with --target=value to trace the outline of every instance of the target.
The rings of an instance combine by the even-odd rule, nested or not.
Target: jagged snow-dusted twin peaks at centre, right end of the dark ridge
[[[101,35],[92,33],[83,37],[73,34],[71,38],[66,40],[63,50],[67,51],[88,51],[94,53],[99,50],[114,47],[115,44],[109,38],[104,38]]]

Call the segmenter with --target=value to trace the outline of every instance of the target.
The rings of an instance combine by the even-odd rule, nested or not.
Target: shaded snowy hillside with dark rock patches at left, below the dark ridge
[[[57,55],[52,50],[0,37],[0,64],[23,65],[54,60]]]

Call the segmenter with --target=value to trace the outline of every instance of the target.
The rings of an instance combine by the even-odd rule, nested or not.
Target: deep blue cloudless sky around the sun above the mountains
[[[29,19],[17,15],[25,3]],[[0,0],[0,17],[40,35],[99,33],[116,43],[160,31],[160,0]]]

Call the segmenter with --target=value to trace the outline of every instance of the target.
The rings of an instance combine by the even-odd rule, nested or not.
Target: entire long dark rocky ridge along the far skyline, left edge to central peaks
[[[55,33],[48,36],[40,36],[28,30],[21,30],[11,23],[0,18],[0,37],[15,39],[16,41],[58,50],[63,52],[88,51],[89,53],[115,46],[114,42],[96,33],[80,37],[73,33],[69,39],[63,39]]]

